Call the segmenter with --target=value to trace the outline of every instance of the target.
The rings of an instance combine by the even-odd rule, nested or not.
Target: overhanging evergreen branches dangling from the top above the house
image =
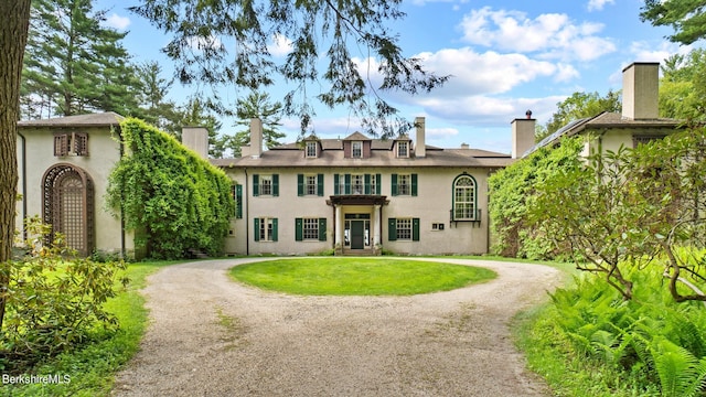
[[[397,109],[379,92],[429,92],[449,78],[425,71],[421,60],[403,55],[398,37],[388,28],[389,21],[404,18],[400,3],[145,0],[131,10],[172,39],[164,52],[178,63],[176,75],[182,83],[259,90],[279,76],[292,83],[282,105],[287,115],[300,118],[302,133],[314,116],[309,103],[313,88],[321,93],[317,98],[329,107],[347,105],[362,117],[368,132],[382,130],[391,136],[410,125],[399,119],[391,122]],[[282,36],[291,40],[291,51],[278,64],[268,44],[272,37]],[[366,75],[367,67],[355,64],[359,49],[370,54],[371,60],[365,62],[376,75]],[[319,71],[322,55],[328,63]],[[227,110],[223,106],[221,109]]]

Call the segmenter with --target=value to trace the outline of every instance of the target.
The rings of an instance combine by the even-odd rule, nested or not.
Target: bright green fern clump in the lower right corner
[[[630,301],[595,277],[577,278],[574,287],[552,293],[530,343],[564,362],[565,379],[553,385],[555,391],[591,385],[587,396],[703,396],[703,305],[675,303],[662,288],[659,266],[627,276],[640,286]]]

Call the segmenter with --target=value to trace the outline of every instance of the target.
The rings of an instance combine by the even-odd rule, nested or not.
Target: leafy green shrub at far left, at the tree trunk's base
[[[39,243],[49,236],[50,226],[32,219],[28,229],[30,255],[2,267],[10,280],[0,337],[0,372],[4,373],[23,373],[83,345],[99,329],[118,326],[104,303],[116,296],[117,272],[125,264],[65,258],[71,253],[61,236],[51,246]]]

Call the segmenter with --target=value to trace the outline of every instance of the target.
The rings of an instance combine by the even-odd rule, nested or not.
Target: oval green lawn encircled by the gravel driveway
[[[411,296],[484,282],[489,269],[388,258],[296,258],[236,266],[233,279],[265,290],[312,296]]]

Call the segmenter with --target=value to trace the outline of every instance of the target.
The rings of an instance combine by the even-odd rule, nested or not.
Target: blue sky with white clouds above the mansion
[[[170,77],[173,66],[160,49],[169,37],[126,10],[138,0],[99,0],[109,9],[107,25],[129,31],[124,44],[137,62],[159,61]],[[666,28],[640,21],[643,0],[404,0],[407,18],[392,26],[407,56],[425,60],[427,69],[452,79],[430,94],[386,96],[410,120],[426,117],[427,144],[510,152],[510,122],[527,109],[545,124],[556,104],[575,92],[620,89],[621,71],[632,62],[663,62],[691,49],[664,39]],[[287,40],[272,43],[286,53]],[[361,64],[367,60],[359,54]],[[372,61],[374,62],[374,61]],[[274,87],[272,98],[284,87]],[[194,87],[176,83],[178,103]],[[222,89],[235,101],[235,88]],[[222,132],[233,132],[223,120]],[[282,119],[287,140],[295,140],[299,120]],[[345,137],[359,121],[345,108],[318,110],[313,128],[321,138]],[[414,138],[414,135],[413,135]]]

